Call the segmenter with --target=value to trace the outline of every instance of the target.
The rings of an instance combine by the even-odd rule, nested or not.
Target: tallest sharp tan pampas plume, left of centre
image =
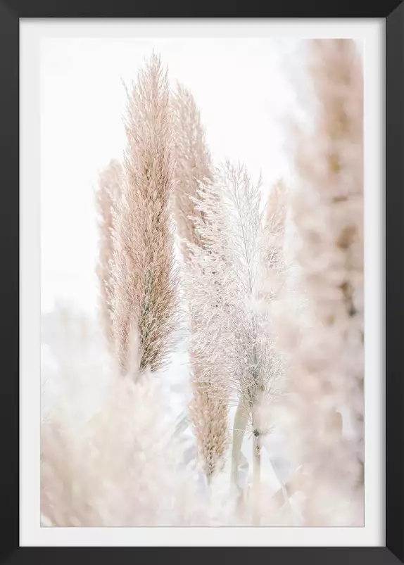
[[[114,231],[113,334],[118,362],[127,369],[129,329],[139,328],[140,367],[165,364],[176,324],[170,197],[172,129],[168,75],[153,54],[127,90],[125,181]]]

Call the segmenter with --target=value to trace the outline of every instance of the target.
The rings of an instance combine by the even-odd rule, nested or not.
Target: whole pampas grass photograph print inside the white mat
[[[363,42],[41,42],[41,525],[364,526]]]

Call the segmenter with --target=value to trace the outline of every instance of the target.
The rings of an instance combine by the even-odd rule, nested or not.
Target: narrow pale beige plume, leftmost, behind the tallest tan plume
[[[112,334],[111,272],[113,270],[113,206],[119,198],[122,184],[122,165],[111,160],[99,177],[96,205],[99,212],[99,262],[96,268],[100,285],[100,317],[108,342]]]

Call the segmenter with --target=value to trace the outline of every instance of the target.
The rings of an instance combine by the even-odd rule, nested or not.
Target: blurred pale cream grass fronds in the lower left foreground
[[[185,464],[186,443],[173,433],[160,381],[165,375],[139,371],[133,337],[132,331],[132,369],[124,376],[108,369],[102,390],[99,356],[87,367],[75,357],[56,359],[66,386],[41,425],[42,526],[236,525],[228,489],[215,479],[207,492],[198,469]],[[77,403],[82,381],[87,395],[99,398],[85,414]]]

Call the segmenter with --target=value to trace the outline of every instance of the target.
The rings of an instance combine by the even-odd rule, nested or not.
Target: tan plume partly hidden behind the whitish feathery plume
[[[175,217],[184,258],[184,269],[190,268],[192,248],[203,247],[203,239],[196,229],[194,217],[203,221],[203,212],[196,208],[195,198],[200,183],[213,179],[210,153],[205,132],[192,94],[181,84],[172,94],[172,115],[175,125]],[[191,333],[197,331],[197,320],[191,310]],[[190,348],[191,387],[193,397],[189,417],[194,427],[198,452],[208,481],[220,471],[225,461],[229,441],[227,430],[227,402],[217,398],[214,385],[203,381],[201,374],[208,362],[206,356]]]

